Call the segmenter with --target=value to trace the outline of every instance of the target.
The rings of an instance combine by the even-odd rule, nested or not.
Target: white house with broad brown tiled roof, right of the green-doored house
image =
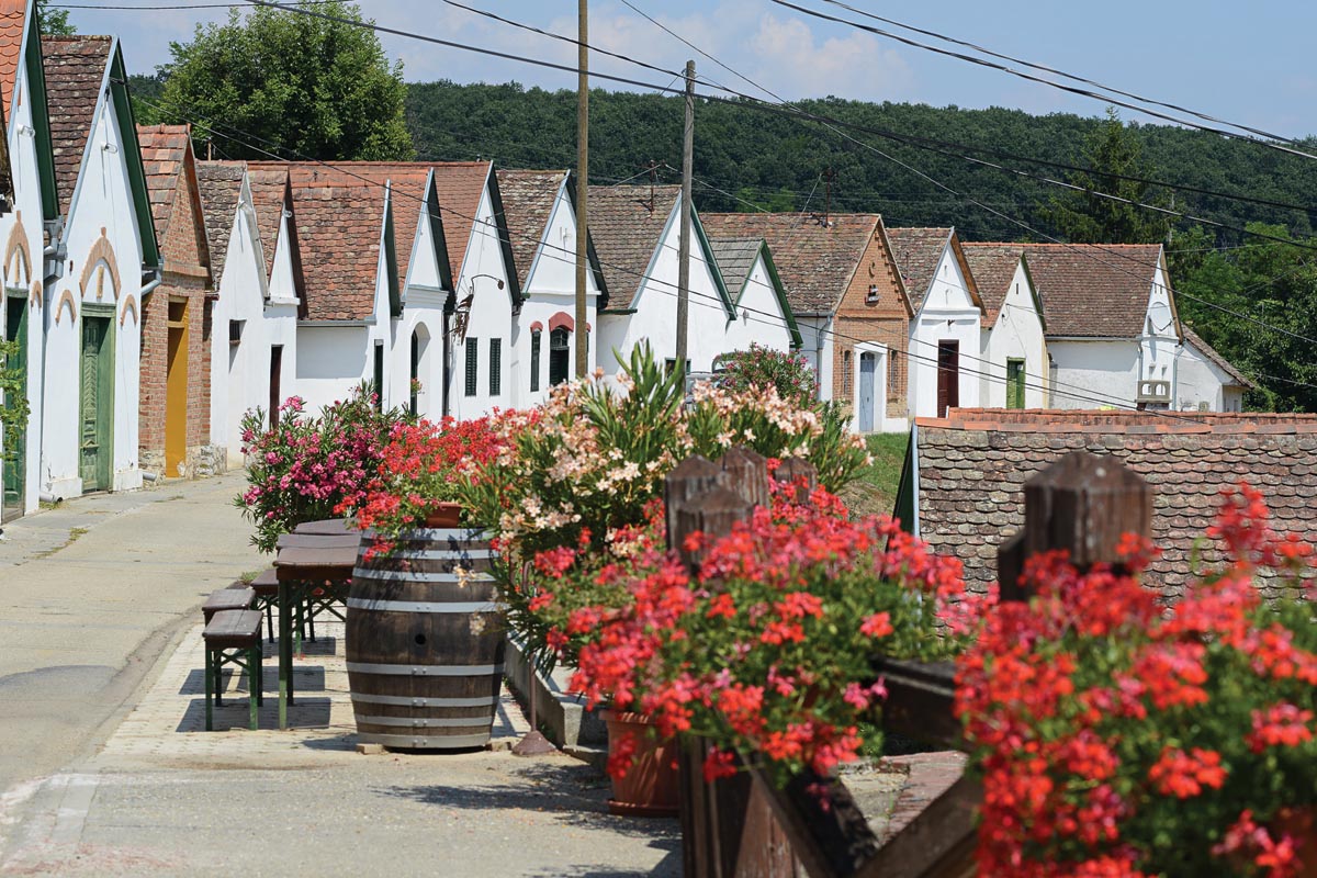
[[[1172,408],[1180,320],[1158,244],[1030,244],[1054,408]]]

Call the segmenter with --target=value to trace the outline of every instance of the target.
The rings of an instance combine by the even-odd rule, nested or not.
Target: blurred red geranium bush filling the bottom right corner
[[[1312,581],[1310,548],[1266,520],[1258,492],[1227,494],[1209,536],[1231,562],[1171,609],[1135,538],[1131,574],[1029,562],[1035,596],[998,607],[957,673],[980,874],[1280,877],[1317,857],[1268,829],[1317,804],[1317,625],[1254,586],[1259,567]]]

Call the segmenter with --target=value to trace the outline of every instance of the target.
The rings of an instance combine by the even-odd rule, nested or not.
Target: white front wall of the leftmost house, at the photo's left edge
[[[0,217],[0,255],[8,251],[11,236],[20,224],[25,232],[24,240],[28,249],[28,266],[14,255],[4,265],[5,301],[0,303],[5,308],[0,315],[8,320],[9,292],[24,291],[28,301],[28,386],[26,398],[30,415],[28,420],[28,434],[25,448],[24,471],[24,512],[36,512],[40,505],[41,494],[41,429],[42,417],[42,370],[45,367],[45,295],[43,295],[43,258],[42,258],[42,209],[41,209],[41,175],[37,167],[37,138],[30,132],[32,100],[22,57],[18,59],[17,79],[14,82],[14,96],[8,120],[8,146],[9,171],[13,175],[14,204],[13,211]],[[0,332],[8,323],[0,323]],[[4,437],[0,436],[0,448]],[[0,466],[11,466],[8,461],[0,459]]]

